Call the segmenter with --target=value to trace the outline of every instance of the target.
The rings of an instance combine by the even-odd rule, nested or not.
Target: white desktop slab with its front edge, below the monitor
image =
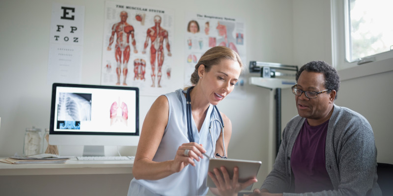
[[[62,164],[7,164],[0,162],[0,175],[126,174],[134,161],[78,161]]]

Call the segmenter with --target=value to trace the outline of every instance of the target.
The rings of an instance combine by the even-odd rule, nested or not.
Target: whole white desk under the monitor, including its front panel
[[[0,162],[0,195],[126,196],[134,161],[78,161],[62,164]]]

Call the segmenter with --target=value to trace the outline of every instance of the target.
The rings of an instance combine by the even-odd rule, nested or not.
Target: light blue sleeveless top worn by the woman
[[[186,97],[182,89],[168,93],[165,96],[169,102],[168,125],[165,128],[164,136],[154,155],[153,161],[162,162],[173,160],[179,146],[189,143],[187,135],[187,113],[186,113]],[[195,142],[202,144],[206,149],[206,154],[213,157],[213,146],[216,147],[216,141],[220,136],[221,125],[216,110],[211,115],[213,105],[210,104],[206,118],[202,127],[198,132],[197,126],[192,121]],[[212,138],[209,133],[209,125],[212,123]],[[132,179],[128,189],[128,196],[201,196],[206,195],[208,187],[206,187],[208,159],[204,157],[200,161],[195,161],[196,166],[188,165],[182,171],[173,173],[159,180],[137,180]]]

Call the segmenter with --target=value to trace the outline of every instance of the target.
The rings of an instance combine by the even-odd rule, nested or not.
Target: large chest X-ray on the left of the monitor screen
[[[59,93],[57,121],[90,121],[91,94]]]

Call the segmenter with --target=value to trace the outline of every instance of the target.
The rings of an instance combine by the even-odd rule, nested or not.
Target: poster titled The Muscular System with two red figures
[[[141,95],[173,91],[173,20],[165,8],[106,1],[101,84],[139,87]]]

